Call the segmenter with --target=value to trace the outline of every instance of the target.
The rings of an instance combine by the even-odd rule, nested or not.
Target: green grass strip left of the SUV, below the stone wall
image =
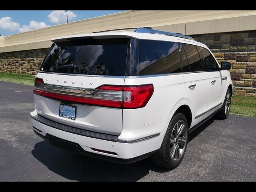
[[[0,81],[34,85],[35,76],[15,73],[0,73]]]

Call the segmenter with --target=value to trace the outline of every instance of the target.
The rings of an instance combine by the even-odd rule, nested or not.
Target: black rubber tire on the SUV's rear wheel
[[[179,144],[179,142],[181,142],[181,140],[180,141],[178,140],[177,144],[175,144],[175,143],[173,144],[175,146],[178,145],[177,148],[183,150],[182,151],[183,153],[180,156],[180,158],[177,158],[178,160],[175,160],[174,158],[171,157],[171,153],[176,149],[175,146],[174,146],[175,149],[172,150],[173,145],[172,145],[172,142],[171,142],[171,136],[173,138],[172,134],[174,134],[175,130],[177,129],[177,128],[174,129],[174,126],[177,127],[178,122],[180,122],[182,124],[184,122],[184,124],[186,125],[186,127],[184,128],[184,134],[180,135],[180,136],[186,135],[186,142],[185,142],[185,145],[183,146],[183,148],[181,148],[181,146]],[[175,142],[176,142],[176,139],[175,139]],[[151,156],[152,160],[155,164],[157,164],[159,166],[162,166],[162,167],[168,168],[168,169],[174,169],[182,161],[182,159],[185,155],[185,152],[186,152],[187,144],[188,144],[188,122],[187,122],[187,119],[184,116],[184,114],[178,113],[170,121],[170,123],[168,125],[168,128],[166,130],[166,134],[164,136],[164,140],[162,142],[161,148],[158,152],[156,152],[155,154],[153,154]]]

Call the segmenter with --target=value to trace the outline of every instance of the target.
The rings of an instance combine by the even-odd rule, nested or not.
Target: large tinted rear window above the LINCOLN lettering
[[[41,71],[125,76],[129,39],[73,39],[56,43]]]

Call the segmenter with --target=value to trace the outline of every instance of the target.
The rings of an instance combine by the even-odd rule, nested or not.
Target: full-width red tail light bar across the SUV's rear
[[[34,94],[56,100],[105,106],[113,108],[141,108],[146,106],[154,90],[153,85],[113,86],[102,85],[92,94],[76,94],[75,92],[58,92],[45,86],[41,78],[35,79]]]

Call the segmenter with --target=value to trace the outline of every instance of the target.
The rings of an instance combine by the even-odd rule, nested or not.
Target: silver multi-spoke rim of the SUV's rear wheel
[[[179,120],[171,134],[171,142],[170,142],[170,155],[173,161],[178,161],[186,148],[186,124],[183,120]]]

